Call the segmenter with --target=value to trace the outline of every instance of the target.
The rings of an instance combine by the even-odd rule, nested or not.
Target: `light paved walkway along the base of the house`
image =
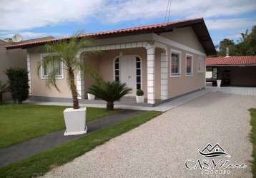
[[[208,92],[208,90],[199,90],[193,93],[189,93],[187,95],[183,95],[179,98],[174,98],[173,100],[170,100],[167,103],[162,103],[160,105],[151,107],[151,106],[136,106],[136,105],[114,105],[114,108],[118,109],[125,109],[125,110],[157,110],[165,112],[167,110],[176,108],[179,105],[183,105],[184,103],[189,102],[189,100],[194,100],[197,97],[200,97],[202,95],[205,95]],[[37,105],[65,105],[69,106],[72,105],[72,103],[59,103],[59,102],[34,102],[27,100],[26,103],[35,103]],[[106,104],[79,104],[82,107],[97,107],[97,108],[106,108]]]

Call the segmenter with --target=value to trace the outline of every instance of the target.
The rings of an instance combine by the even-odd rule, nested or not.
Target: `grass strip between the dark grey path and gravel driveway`
[[[49,172],[52,167],[65,164],[75,157],[83,155],[97,145],[117,137],[132,128],[142,125],[162,112],[146,111],[117,125],[92,132],[78,140],[73,140],[52,150],[23,159],[0,168],[0,177],[36,177]]]

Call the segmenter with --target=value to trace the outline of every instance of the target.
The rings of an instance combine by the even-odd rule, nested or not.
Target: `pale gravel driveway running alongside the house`
[[[45,177],[207,177],[199,169],[186,169],[184,162],[205,159],[198,150],[208,143],[219,143],[231,155],[223,157],[230,163],[247,165],[230,170],[225,177],[252,177],[250,108],[256,108],[255,97],[207,93],[57,167]]]

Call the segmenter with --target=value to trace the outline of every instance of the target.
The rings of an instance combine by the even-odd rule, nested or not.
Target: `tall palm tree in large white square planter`
[[[44,58],[44,62],[39,63],[38,66],[38,75],[39,70],[42,67],[51,69],[47,71],[49,73],[49,78],[47,78],[46,84],[47,86],[53,85],[58,91],[59,88],[56,85],[56,75],[58,70],[55,68],[56,65],[54,64],[63,63],[63,69],[67,70],[67,82],[72,93],[73,108],[64,110],[64,121],[66,125],[64,135],[81,135],[87,133],[87,109],[79,107],[75,74],[78,70],[90,70],[85,63],[82,63],[79,58],[77,58],[77,53],[79,53],[82,48],[87,48],[89,46],[92,46],[92,42],[88,38],[79,38],[79,36],[73,36],[69,41],[54,41],[46,44],[44,50],[46,50],[47,56]]]

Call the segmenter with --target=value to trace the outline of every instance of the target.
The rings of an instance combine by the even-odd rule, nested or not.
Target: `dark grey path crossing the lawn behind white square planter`
[[[88,122],[87,133],[100,130],[110,125],[115,125],[117,122],[127,120],[129,117],[138,115],[142,112],[143,111],[140,110],[122,110],[120,113],[108,115],[99,120]],[[11,162],[15,162],[19,159],[25,159],[26,157],[31,157],[32,155],[36,155],[36,153],[44,152],[84,136],[86,135],[73,135],[67,137],[64,136],[64,130],[61,130],[42,137],[36,137],[26,142],[21,142],[20,144],[13,145],[11,147],[0,148],[0,167],[4,167]]]

